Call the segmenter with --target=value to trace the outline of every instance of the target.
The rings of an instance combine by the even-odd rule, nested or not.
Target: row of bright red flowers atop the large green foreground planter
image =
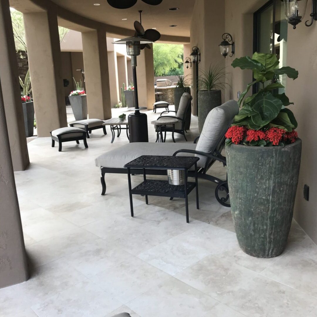
[[[261,131],[247,129],[244,126],[231,126],[225,136],[231,139],[234,144],[239,144],[245,137],[247,142],[265,140],[272,142],[273,145],[279,145],[281,141],[286,142],[286,144],[294,143],[298,138],[295,130],[285,132],[283,129],[272,127],[266,131]]]

